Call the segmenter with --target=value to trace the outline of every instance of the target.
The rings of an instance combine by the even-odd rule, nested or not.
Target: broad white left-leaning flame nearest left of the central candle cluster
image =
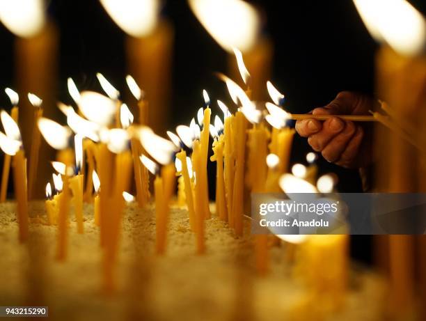
[[[175,144],[156,135],[149,127],[142,127],[139,135],[143,148],[162,165],[170,164],[178,150]]]

